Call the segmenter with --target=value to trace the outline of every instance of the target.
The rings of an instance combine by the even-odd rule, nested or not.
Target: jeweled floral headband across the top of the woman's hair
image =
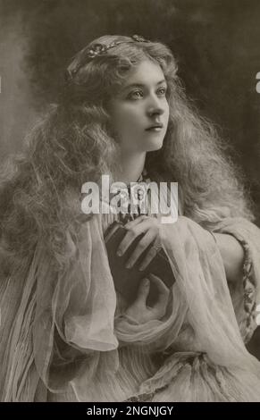
[[[76,63],[75,67],[73,69],[67,69],[66,71],[66,80],[71,81],[75,77],[76,73],[80,70],[80,67],[82,67],[85,63],[88,62],[90,59],[94,59],[95,57],[106,55],[107,51],[114,46],[119,46],[120,44],[127,44],[130,42],[151,42],[148,39],[145,39],[139,35],[132,35],[129,40],[123,40],[123,41],[113,41],[111,44],[108,44],[106,46],[105,44],[93,44],[92,46],[89,46],[85,50],[82,51],[82,57],[80,57],[79,63]]]

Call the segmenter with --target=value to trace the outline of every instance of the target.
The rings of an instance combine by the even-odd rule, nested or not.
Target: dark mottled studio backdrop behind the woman
[[[172,48],[189,97],[245,172],[260,225],[259,0],[0,0],[0,163],[55,102],[71,56],[104,34]],[[249,348],[260,358],[257,347],[259,332]]]

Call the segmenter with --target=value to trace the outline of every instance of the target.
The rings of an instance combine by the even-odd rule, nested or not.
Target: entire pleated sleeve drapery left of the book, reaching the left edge
[[[33,401],[42,383],[62,393],[80,369],[89,387],[102,368],[115,369],[116,295],[100,219],[82,223],[77,239],[68,234],[67,247],[63,270],[39,241],[33,256],[2,274],[2,400]]]

